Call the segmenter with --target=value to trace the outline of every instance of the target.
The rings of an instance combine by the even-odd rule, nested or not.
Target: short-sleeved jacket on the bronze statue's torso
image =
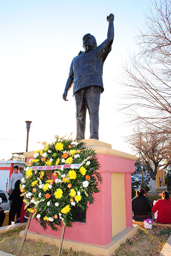
[[[106,60],[111,47],[108,48],[107,40],[95,49],[80,52],[70,66],[70,76],[74,78],[73,94],[79,89],[89,86],[100,86],[101,93],[103,88],[103,63]]]

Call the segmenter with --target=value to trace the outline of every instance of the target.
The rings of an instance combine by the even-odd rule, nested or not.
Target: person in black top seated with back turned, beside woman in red
[[[136,195],[132,200],[133,220],[144,221],[144,219],[151,218],[152,204],[146,198],[146,190],[139,189],[136,191]]]

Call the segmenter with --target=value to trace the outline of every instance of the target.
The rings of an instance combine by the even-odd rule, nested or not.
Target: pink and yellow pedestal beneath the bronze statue
[[[99,184],[101,192],[94,195],[94,204],[89,205],[86,223],[75,222],[72,228],[66,228],[64,241],[70,241],[73,245],[81,243],[83,250],[93,253],[97,253],[93,248],[100,246],[101,249],[103,247],[107,250],[105,253],[98,251],[97,254],[110,255],[111,250],[108,248],[115,243],[114,239],[117,236],[123,235],[123,239],[125,239],[133,236],[137,231],[137,227],[133,226],[131,205],[131,173],[134,172],[136,157],[114,150],[110,144],[101,141],[94,139],[83,141],[88,147],[95,148],[98,161],[101,164],[99,172],[102,175],[103,183]],[[60,238],[61,229],[57,232],[50,228],[44,231],[38,223],[32,220],[29,233],[32,234],[32,237],[39,233],[46,237]],[[63,243],[64,247],[65,242]],[[87,246],[88,249],[86,249]]]

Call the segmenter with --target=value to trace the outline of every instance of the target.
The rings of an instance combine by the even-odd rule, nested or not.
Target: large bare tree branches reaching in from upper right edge
[[[128,115],[132,121],[171,127],[171,1],[152,0],[146,27],[139,31],[138,54],[124,67]],[[143,109],[143,112],[142,112]],[[169,129],[169,132],[170,129]]]

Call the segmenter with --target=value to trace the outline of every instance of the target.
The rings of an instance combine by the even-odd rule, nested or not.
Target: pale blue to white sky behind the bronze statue
[[[123,142],[130,128],[116,112],[122,101],[118,77],[134,37],[144,25],[149,0],[0,0],[0,159],[25,151],[25,120],[32,121],[29,150],[54,135],[76,135],[75,102],[62,99],[70,63],[91,33],[99,45],[107,38],[107,15],[114,13],[112,52],[104,63],[99,140],[131,152]],[[87,116],[89,119],[89,116]],[[88,120],[89,122],[89,120]],[[88,126],[88,125],[87,125]],[[125,125],[124,125],[125,126]],[[86,129],[89,138],[89,127]]]

